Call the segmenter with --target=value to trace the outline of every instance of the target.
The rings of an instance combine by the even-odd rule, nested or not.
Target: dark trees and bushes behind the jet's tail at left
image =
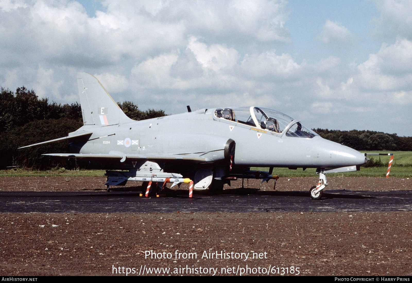
[[[143,120],[165,116],[164,110],[140,110],[131,101],[118,105],[131,119]],[[40,170],[55,167],[84,167],[81,161],[53,158],[43,153],[68,152],[67,142],[49,143],[18,150],[18,147],[61,138],[83,125],[80,104],[60,104],[39,98],[33,89],[16,91],[0,88],[0,168],[20,166]]]

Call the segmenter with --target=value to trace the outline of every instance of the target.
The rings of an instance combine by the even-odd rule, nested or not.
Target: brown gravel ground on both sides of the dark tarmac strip
[[[335,177],[328,181],[328,189],[412,189],[407,178]],[[104,182],[103,177],[5,177],[0,179],[0,189],[102,190]],[[307,191],[316,182],[316,177],[283,178],[276,190]],[[273,189],[273,181],[261,185],[249,180],[248,185]],[[233,182],[232,188],[239,186],[241,181]],[[283,271],[295,276],[299,271],[299,275],[410,276],[411,216],[410,211],[2,213],[0,275],[104,276],[121,271],[124,276],[133,268],[135,274],[129,276],[142,270],[155,275],[155,270],[147,268],[170,268],[160,275],[186,275],[189,267],[199,275],[246,271],[278,275]],[[151,250],[156,258],[145,257]],[[221,251],[226,258],[220,258]],[[184,258],[189,253],[197,258]],[[252,258],[253,254],[260,258]]]

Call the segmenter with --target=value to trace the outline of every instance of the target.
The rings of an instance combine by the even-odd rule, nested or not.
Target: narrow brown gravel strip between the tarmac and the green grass
[[[76,190],[105,190],[105,177],[2,177],[0,191],[76,191]],[[276,183],[277,191],[309,191],[316,185],[314,177],[280,178]],[[378,177],[329,177],[327,189],[351,189],[356,191],[388,191],[410,190],[412,179],[409,178],[378,178]],[[127,182],[125,188],[140,186],[141,182]],[[260,190],[273,190],[274,181],[269,183],[260,180],[244,180],[244,187]],[[242,186],[242,181],[232,181],[232,186],[225,189]],[[177,186],[176,186],[177,187]],[[175,187],[175,188],[176,188]],[[113,187],[116,188],[116,187]],[[124,187],[119,186],[119,189]],[[181,189],[187,188],[182,184]],[[140,187],[138,188],[140,189]],[[197,191],[201,192],[201,191]],[[196,194],[196,191],[195,191]]]

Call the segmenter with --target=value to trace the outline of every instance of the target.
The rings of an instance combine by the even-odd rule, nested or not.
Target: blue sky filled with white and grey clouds
[[[412,1],[0,0],[1,87],[73,103],[77,72],[142,110],[412,136]]]

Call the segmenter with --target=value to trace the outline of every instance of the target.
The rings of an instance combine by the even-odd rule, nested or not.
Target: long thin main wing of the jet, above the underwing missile
[[[120,152],[119,152],[120,153]],[[75,157],[75,158],[89,158],[89,159],[126,159],[137,160],[137,159],[147,159],[147,160],[187,160],[187,161],[203,161],[211,162],[213,161],[207,157],[197,157],[194,155],[180,155],[180,154],[93,154],[93,153],[48,153],[42,155],[58,156],[58,157]],[[123,160],[124,161],[124,160]],[[122,161],[122,162],[123,162]]]

